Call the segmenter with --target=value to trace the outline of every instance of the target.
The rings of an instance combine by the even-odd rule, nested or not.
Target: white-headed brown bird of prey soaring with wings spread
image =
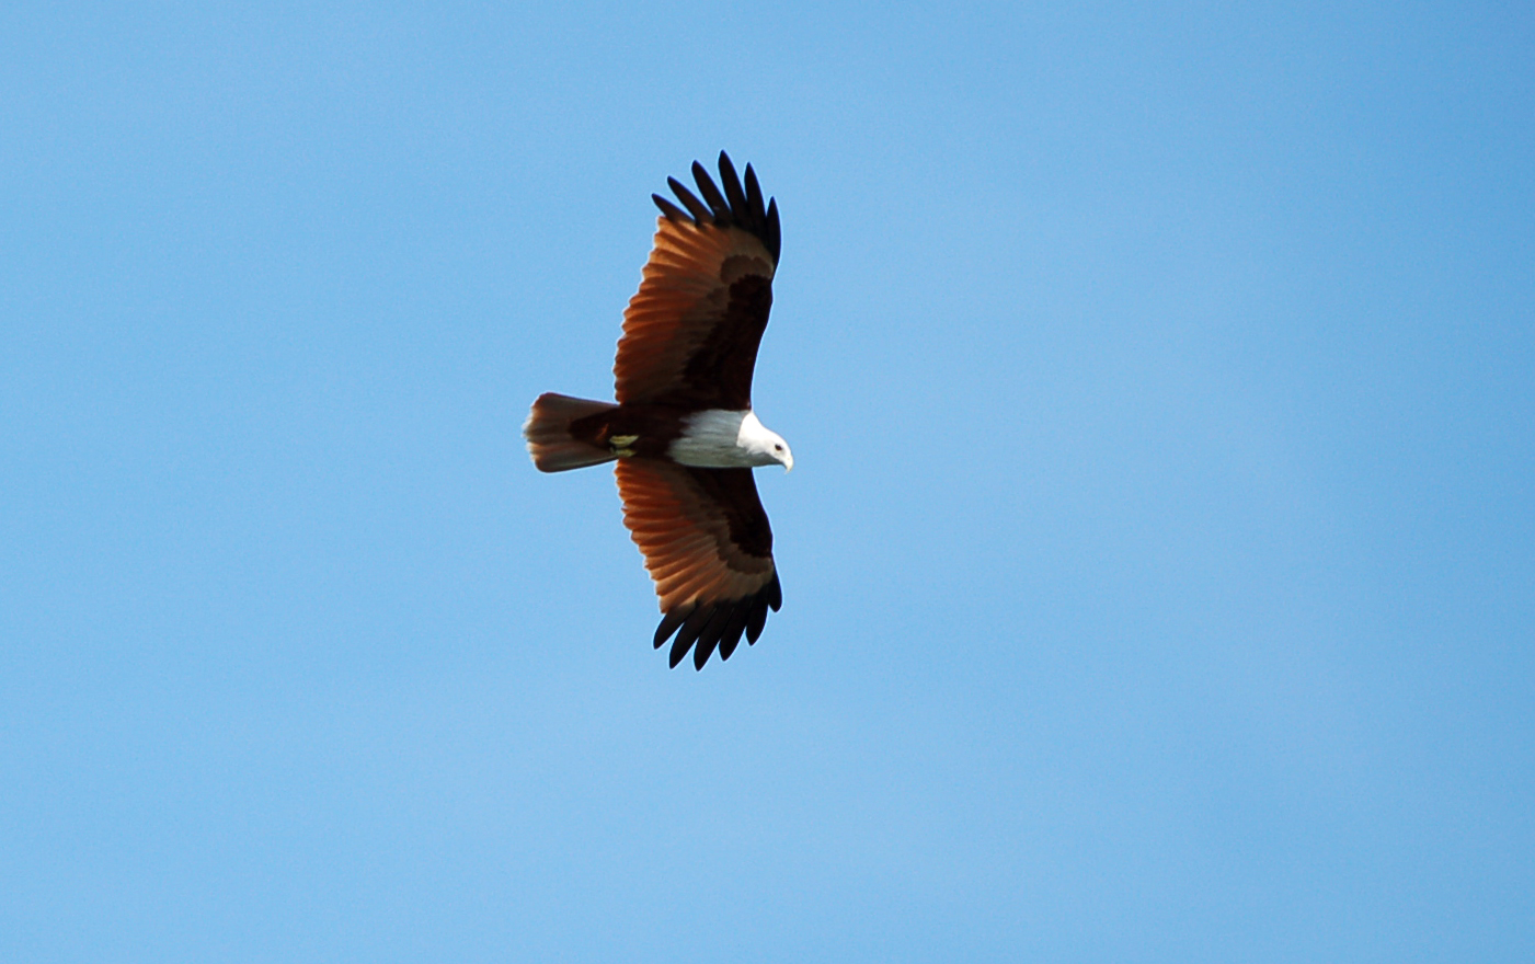
[[[720,152],[720,184],[694,161],[694,195],[677,178],[660,209],[640,290],[623,312],[612,364],[616,402],[545,393],[522,433],[540,471],[617,462],[623,523],[660,597],[655,648],[671,666],[692,649],[752,645],[783,605],[772,528],[752,468],[794,468],[783,437],[752,411],[752,370],[778,269],[778,203],[763,204]],[[700,198],[701,195],[701,198]],[[674,636],[675,634],[675,636]]]

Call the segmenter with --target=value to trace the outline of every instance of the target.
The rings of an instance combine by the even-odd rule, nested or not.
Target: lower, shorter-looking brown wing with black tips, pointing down
[[[721,660],[731,659],[741,632],[755,643],[783,593],[752,470],[637,457],[620,459],[617,476],[623,523],[666,614],[655,648],[675,632],[671,665],[692,648],[692,663],[703,669],[715,646]]]

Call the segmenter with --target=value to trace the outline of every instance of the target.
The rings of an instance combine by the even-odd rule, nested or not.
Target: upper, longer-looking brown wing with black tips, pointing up
[[[686,210],[652,195],[662,218],[640,290],[623,313],[616,391],[625,404],[740,411],[752,404],[757,345],[772,309],[778,203],[763,209],[751,164],[743,189],[723,150],[723,193],[697,161],[692,177],[701,201],[666,180]]]

